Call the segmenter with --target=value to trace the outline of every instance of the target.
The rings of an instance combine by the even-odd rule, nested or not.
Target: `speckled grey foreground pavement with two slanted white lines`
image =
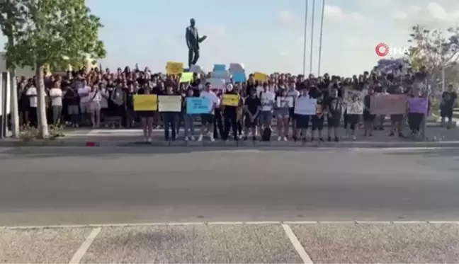
[[[459,224],[252,223],[0,229],[2,263],[459,263]]]

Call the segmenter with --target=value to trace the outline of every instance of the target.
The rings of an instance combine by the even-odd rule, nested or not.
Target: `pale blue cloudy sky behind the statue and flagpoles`
[[[201,45],[198,64],[239,62],[247,71],[302,73],[305,0],[86,0],[101,17],[100,38],[108,55],[103,67],[148,66],[164,71],[166,62],[186,62],[185,28],[196,18]],[[311,71],[311,13],[308,16],[307,73]],[[192,3],[192,4],[188,4]],[[312,73],[317,74],[322,1],[316,1]],[[321,73],[352,75],[379,59],[375,45],[407,46],[416,24],[446,28],[459,21],[457,0],[326,0]],[[0,38],[0,41],[4,38]]]

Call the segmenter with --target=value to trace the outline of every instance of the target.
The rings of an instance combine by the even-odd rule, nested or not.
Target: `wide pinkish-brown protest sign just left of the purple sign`
[[[373,115],[398,115],[407,111],[407,96],[403,94],[375,93],[370,98]]]

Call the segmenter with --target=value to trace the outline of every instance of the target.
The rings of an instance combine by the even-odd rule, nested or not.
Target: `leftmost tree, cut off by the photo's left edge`
[[[8,45],[14,45],[13,28],[20,28],[23,25],[23,8],[17,0],[4,0],[0,4],[0,29],[8,38]],[[19,136],[19,115],[18,115],[18,90],[16,87],[16,64],[6,60],[6,67],[10,71],[11,84],[11,123],[13,137]]]

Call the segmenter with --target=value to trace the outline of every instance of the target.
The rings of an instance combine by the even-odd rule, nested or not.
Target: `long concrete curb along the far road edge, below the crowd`
[[[132,141],[84,141],[84,140],[69,140],[69,139],[54,139],[54,140],[35,140],[31,142],[21,142],[13,140],[0,141],[0,147],[239,147],[239,148],[254,148],[254,147],[288,147],[288,148],[433,148],[433,147],[459,147],[459,141],[402,141],[402,142],[252,142],[252,141],[215,141],[215,142],[184,142],[178,140],[176,142],[154,141],[150,143],[132,142]]]

